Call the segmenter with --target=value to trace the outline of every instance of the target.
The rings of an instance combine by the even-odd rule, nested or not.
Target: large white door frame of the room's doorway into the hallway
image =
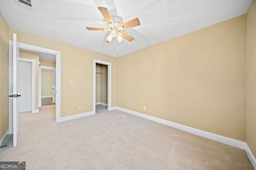
[[[13,41],[9,41],[9,45],[13,44]],[[56,50],[52,50],[52,49],[46,49],[43,47],[38,47],[38,46],[34,46],[34,45],[29,45],[29,44],[25,44],[25,43],[18,43],[18,47],[22,50],[32,50],[32,51],[40,51],[40,52],[44,52],[44,53],[50,53],[50,54],[54,54],[56,55],[56,122],[60,122],[60,58],[61,58],[61,52],[60,51],[56,51]],[[10,115],[9,115],[10,117]],[[12,125],[13,126],[13,125]],[[9,123],[9,127],[10,127],[10,123]]]

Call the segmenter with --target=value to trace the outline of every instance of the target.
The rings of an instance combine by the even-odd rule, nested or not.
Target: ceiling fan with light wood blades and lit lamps
[[[134,18],[133,20],[122,23],[122,20],[118,16],[112,16],[116,21],[114,23],[107,8],[98,7],[98,9],[100,10],[100,13],[104,17],[104,19],[107,21],[108,28],[86,27],[86,29],[94,31],[110,31],[110,34],[106,38],[106,43],[111,43],[114,37],[117,38],[119,43],[123,41],[123,39],[126,39],[130,42],[134,40],[134,37],[124,33],[123,30],[140,25],[140,20],[138,18]]]

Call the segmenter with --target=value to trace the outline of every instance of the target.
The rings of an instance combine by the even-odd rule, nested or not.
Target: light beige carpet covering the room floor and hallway
[[[27,170],[253,170],[242,149],[96,107],[96,115],[62,123],[55,105],[21,113],[18,146],[1,148],[0,161],[26,161]]]

